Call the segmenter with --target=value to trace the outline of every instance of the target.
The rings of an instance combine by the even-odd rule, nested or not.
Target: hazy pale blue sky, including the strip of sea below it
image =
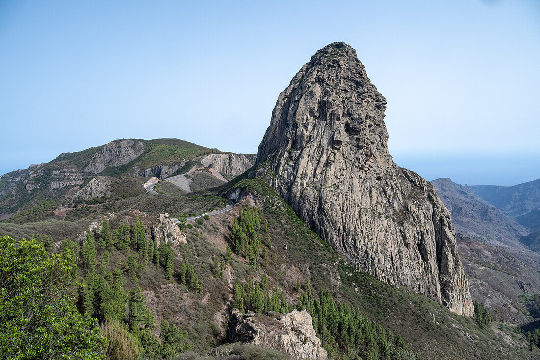
[[[535,0],[0,0],[0,174],[117,138],[257,152],[279,93],[334,41],[386,96],[397,164],[540,177]]]

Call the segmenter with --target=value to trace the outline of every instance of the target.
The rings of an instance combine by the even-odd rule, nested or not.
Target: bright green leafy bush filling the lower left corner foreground
[[[104,359],[97,322],[78,313],[77,265],[43,244],[0,238],[0,354],[9,359]]]

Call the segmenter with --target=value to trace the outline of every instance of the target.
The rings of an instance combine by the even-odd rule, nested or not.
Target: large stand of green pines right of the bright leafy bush
[[[110,258],[117,251],[129,255],[121,268],[114,269]],[[79,309],[96,318],[106,334],[110,329],[124,329],[125,333],[120,332],[136,344],[137,353],[149,358],[169,358],[191,348],[184,342],[187,333],[180,332],[177,326],[166,320],[161,322],[161,342],[152,334],[155,329],[154,316],[146,306],[138,277],[152,263],[163,266],[165,277],[171,280],[174,254],[168,244],[158,246],[152,239],[146,239],[146,228],[139,218],[133,226],[123,222],[112,235],[106,219],[97,238],[87,230],[80,257],[85,275],[78,301]],[[124,289],[124,275],[135,283],[129,291]],[[118,331],[115,334],[120,336]]]

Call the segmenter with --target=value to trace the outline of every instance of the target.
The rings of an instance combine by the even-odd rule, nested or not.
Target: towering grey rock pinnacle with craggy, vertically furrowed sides
[[[450,214],[433,185],[392,161],[384,110],[356,51],[329,44],[279,95],[251,175],[348,262],[470,316]]]

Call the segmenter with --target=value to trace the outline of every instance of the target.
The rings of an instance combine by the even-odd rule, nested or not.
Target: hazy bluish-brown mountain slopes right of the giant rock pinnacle
[[[516,221],[535,210],[515,217],[503,210],[521,214],[534,209],[538,180],[515,186],[467,186],[449,178],[431,183],[451,212],[471,296],[484,299],[497,317],[526,321],[519,296],[540,292],[540,233]],[[475,189],[487,194],[491,203]]]

